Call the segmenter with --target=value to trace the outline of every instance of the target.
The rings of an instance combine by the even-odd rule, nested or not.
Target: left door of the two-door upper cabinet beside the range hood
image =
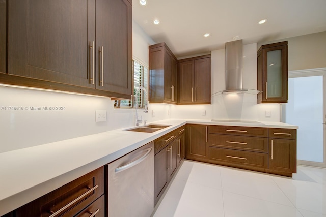
[[[194,102],[194,61],[180,63],[179,103]]]

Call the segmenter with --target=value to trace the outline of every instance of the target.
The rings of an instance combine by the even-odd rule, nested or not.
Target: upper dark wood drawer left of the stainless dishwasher
[[[80,211],[103,194],[104,167],[101,167],[18,208],[16,216],[46,217],[52,213],[59,212],[61,209],[59,215],[62,215],[77,206],[82,207],[79,209]],[[75,202],[71,203],[72,201]]]

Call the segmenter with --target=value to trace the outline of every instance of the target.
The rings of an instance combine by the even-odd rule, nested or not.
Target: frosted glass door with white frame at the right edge
[[[326,69],[289,72],[289,100],[282,119],[299,126],[298,164],[326,167],[325,79]]]

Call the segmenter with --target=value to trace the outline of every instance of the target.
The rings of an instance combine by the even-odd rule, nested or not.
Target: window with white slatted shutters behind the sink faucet
[[[148,87],[148,69],[144,65],[133,60],[133,95],[131,100],[116,100],[114,103],[115,108],[134,108],[133,99],[135,97],[137,87]],[[143,90],[138,91],[136,96],[138,108],[145,108],[146,93]]]

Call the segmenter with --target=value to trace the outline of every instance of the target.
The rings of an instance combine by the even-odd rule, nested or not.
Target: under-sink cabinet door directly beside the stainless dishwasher
[[[167,148],[162,149],[154,157],[154,206],[168,185],[168,161],[169,152]]]

